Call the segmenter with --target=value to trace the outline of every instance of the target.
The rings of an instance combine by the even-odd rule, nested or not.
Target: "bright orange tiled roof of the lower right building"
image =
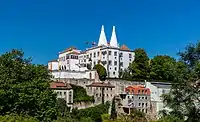
[[[143,85],[134,85],[134,86],[128,86],[125,88],[125,92],[128,92],[129,94],[146,94],[150,95],[150,89],[145,88]]]

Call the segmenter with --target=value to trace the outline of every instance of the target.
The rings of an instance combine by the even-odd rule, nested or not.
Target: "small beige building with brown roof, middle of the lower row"
[[[110,84],[110,82],[93,82],[90,85],[86,85],[87,94],[94,96],[95,104],[102,102],[102,89],[104,89],[104,101],[112,101],[112,98],[115,95],[115,86]]]

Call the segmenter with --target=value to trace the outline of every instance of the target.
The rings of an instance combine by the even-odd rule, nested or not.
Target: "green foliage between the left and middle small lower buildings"
[[[87,92],[83,87],[73,85],[73,84],[71,84],[71,86],[73,89],[73,94],[74,94],[73,99],[75,103],[76,102],[94,102],[94,97],[87,95]]]

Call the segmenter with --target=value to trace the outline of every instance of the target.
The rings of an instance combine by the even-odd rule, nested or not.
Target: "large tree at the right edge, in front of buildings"
[[[200,119],[200,89],[196,81],[199,77],[199,47],[188,45],[180,52],[180,62],[176,65],[175,80],[169,94],[164,95],[164,102],[175,116],[186,122],[198,122]]]

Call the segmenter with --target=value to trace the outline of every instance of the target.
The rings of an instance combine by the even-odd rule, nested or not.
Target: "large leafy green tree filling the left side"
[[[56,119],[56,95],[43,65],[34,65],[13,49],[0,56],[0,114],[24,114],[48,121]]]

